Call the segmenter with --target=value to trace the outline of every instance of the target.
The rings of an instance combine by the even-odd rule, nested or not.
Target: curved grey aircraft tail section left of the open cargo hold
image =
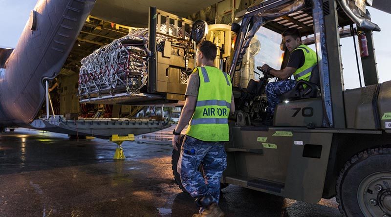
[[[39,0],[0,70],[0,122],[30,123],[45,98],[45,79],[60,72],[95,0]]]

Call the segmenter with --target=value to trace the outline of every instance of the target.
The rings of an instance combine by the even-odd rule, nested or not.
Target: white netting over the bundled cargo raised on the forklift
[[[166,25],[161,25],[166,32]],[[170,33],[175,31],[170,25]],[[178,29],[178,37],[182,37]],[[187,35],[187,37],[190,37]],[[156,50],[163,52],[169,36],[156,34]],[[90,98],[91,94],[138,93],[148,81],[148,28],[138,29],[128,35],[95,50],[82,59],[79,72],[79,96]],[[184,70],[180,82],[186,84],[188,73]]]

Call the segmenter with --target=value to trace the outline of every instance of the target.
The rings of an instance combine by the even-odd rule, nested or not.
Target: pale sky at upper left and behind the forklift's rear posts
[[[17,2],[15,0],[0,0],[0,47],[16,46],[30,11],[36,4],[36,0],[18,0]],[[388,38],[391,35],[391,28],[389,28],[391,14],[367,8],[371,14],[372,22],[378,24],[382,29],[381,32],[373,34],[379,79],[381,83],[390,81],[391,71],[388,62],[391,62],[391,49]],[[357,44],[357,37],[355,43]],[[345,89],[360,87],[353,40],[351,37],[341,39],[341,44]],[[361,67],[360,58],[359,61]],[[360,72],[362,74],[361,68]],[[361,78],[364,84],[363,76]]]

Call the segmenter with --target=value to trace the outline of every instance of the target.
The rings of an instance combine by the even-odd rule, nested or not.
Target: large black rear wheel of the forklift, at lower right
[[[391,216],[391,148],[350,158],[338,176],[336,193],[344,217]]]

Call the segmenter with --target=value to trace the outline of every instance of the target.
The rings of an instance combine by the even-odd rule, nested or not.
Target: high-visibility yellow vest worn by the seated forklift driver
[[[318,63],[318,59],[315,51],[313,51],[307,45],[301,44],[296,49],[294,49],[294,51],[299,49],[303,50],[304,52],[304,65],[296,69],[295,73],[293,73],[293,76],[295,77],[296,81],[309,81],[309,79],[311,78],[311,71]]]

